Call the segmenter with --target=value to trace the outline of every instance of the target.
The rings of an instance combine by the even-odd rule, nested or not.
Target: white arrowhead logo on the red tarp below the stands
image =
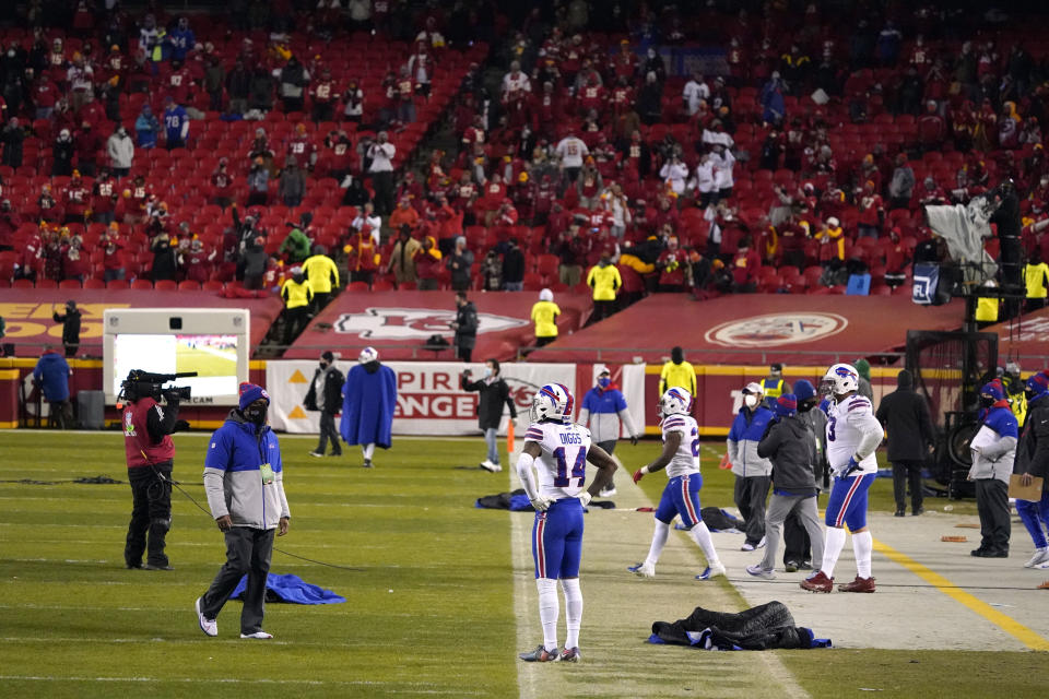
[[[426,340],[431,335],[453,332],[452,310],[433,308],[366,308],[342,313],[333,323],[335,332],[370,340]],[[478,313],[478,333],[523,328],[529,321],[508,316]]]

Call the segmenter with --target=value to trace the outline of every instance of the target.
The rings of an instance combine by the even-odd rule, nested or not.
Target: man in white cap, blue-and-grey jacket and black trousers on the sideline
[[[757,455],[757,443],[773,413],[765,407],[759,383],[747,383],[743,389],[740,408],[727,441],[729,461],[735,474],[735,507],[746,521],[746,541],[740,550],[754,550],[765,545],[765,500],[773,483],[773,464]]]

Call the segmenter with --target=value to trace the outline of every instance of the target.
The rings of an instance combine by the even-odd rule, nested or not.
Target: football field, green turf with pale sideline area
[[[175,441],[175,477],[207,507],[207,435]],[[620,508],[591,508],[586,518],[584,661],[528,665],[517,653],[541,640],[532,516],[473,507],[479,496],[516,487],[509,469],[476,469],[480,437],[397,439],[392,450],[377,452],[374,470],[360,467],[355,448],[341,459],[311,459],[315,438],[281,442],[292,522],[288,535],[276,540],[282,550],[274,552],[271,572],[295,573],[347,602],[269,604],[264,627],[274,639],[247,641],[238,638],[237,602],[220,615],[217,638],[197,626],[193,601],[224,560],[224,545],[210,516],[177,490],[167,548],[175,570],[125,569],[131,497],[119,433],[0,431],[0,694],[1026,697],[1041,691],[1049,667],[1049,655],[1035,650],[1039,639],[1049,648],[1049,590],[1034,590],[1049,571],[1015,571],[1029,555],[1015,528],[1007,561],[980,561],[1007,565],[977,571],[987,587],[1001,585],[993,592],[974,587],[965,597],[948,584],[924,584],[917,568],[892,557],[900,550],[918,556],[918,544],[939,540],[941,530],[974,541],[978,532],[970,529],[943,529],[975,519],[971,502],[952,503],[953,512],[939,520],[876,520],[875,537],[883,531],[885,542],[875,553],[875,574],[889,587],[849,600],[802,594],[800,573],[764,588],[741,580],[745,555],[733,534],[715,535],[731,580],[695,581],[703,557],[682,533],[672,533],[657,578],[634,578],[625,567],[647,553],[651,516],[632,508],[658,501],[665,478],[649,476],[638,488],[624,472],[613,498]],[[655,441],[625,443],[617,455],[632,471],[657,449]],[[719,449],[705,447],[704,505],[731,508],[731,474],[714,465]],[[121,483],[73,482],[99,475]],[[872,509],[892,509],[891,489],[891,482],[875,483]],[[936,529],[911,542],[904,523]],[[969,573],[956,558],[941,566],[942,549],[929,550],[916,565],[967,584]],[[854,572],[848,545],[839,570],[848,579]],[[999,570],[1009,571],[1007,582]],[[739,611],[769,599],[783,601],[799,625],[839,648],[716,653],[645,643],[655,620],[687,616],[697,605]],[[928,618],[917,618],[921,609]]]

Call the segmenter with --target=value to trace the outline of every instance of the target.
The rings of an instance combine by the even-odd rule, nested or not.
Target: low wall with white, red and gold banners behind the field
[[[22,395],[27,396],[28,407],[35,411],[36,393],[32,386],[35,359],[0,359],[0,427],[17,427]],[[347,371],[352,364],[343,363],[340,369]],[[399,406],[393,431],[399,435],[472,435],[476,434],[476,393],[459,389],[459,375],[464,365],[448,362],[393,362],[389,366],[398,375]],[[480,364],[470,365],[474,377],[480,377]],[[567,386],[576,395],[577,414],[582,396],[594,384],[594,364],[504,364],[503,374],[510,384],[517,410],[527,414],[531,395],[542,383],[556,381]],[[97,359],[72,359],[70,391],[101,390],[102,362]],[[254,383],[267,387],[273,396],[271,424],[274,429],[295,434],[317,431],[317,413],[306,411],[302,401],[309,389],[316,362],[307,360],[254,360],[249,376]],[[648,435],[659,434],[659,375],[660,365],[625,364],[611,365],[613,382],[626,396],[635,424],[644,425]],[[785,378],[793,383],[809,379],[817,383],[826,367],[787,367]],[[898,369],[872,368],[871,383],[875,403],[896,388]],[[750,381],[761,381],[767,374],[764,366],[696,365],[697,400],[694,410],[700,435],[723,437],[728,435],[732,418],[739,411],[740,390]],[[24,393],[23,393],[24,392]],[[74,399],[75,400],[75,399]],[[195,429],[215,429],[228,408],[212,405],[185,405],[180,413]],[[31,412],[35,415],[35,412]],[[119,413],[114,406],[106,407],[106,426],[118,428]],[[503,430],[505,433],[506,422]]]

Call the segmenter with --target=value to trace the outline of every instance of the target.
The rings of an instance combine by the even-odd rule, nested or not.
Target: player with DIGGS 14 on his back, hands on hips
[[[517,461],[517,473],[535,508],[532,558],[539,589],[539,618],[543,625],[543,642],[520,654],[520,659],[528,662],[575,663],[581,657],[582,508],[612,483],[615,471],[612,458],[590,443],[590,430],[571,422],[574,403],[571,392],[561,383],[547,383],[535,393],[532,424],[524,434],[524,448]],[[584,490],[588,461],[598,467],[598,476]],[[557,648],[557,580],[565,594],[568,628],[564,651]]]

